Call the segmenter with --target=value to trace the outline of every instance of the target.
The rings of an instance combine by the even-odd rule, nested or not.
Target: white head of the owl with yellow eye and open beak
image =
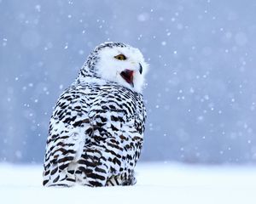
[[[121,42],[104,42],[90,53],[78,79],[101,78],[141,93],[147,71],[148,65],[139,49]]]

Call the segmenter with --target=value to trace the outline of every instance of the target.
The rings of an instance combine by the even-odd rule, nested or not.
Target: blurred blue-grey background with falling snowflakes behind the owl
[[[0,0],[0,161],[43,162],[49,117],[90,51],[140,48],[143,161],[255,163],[256,2]]]

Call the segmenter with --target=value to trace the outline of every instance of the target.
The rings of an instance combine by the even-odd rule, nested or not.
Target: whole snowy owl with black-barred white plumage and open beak
[[[44,186],[132,185],[143,146],[148,65],[121,42],[97,46],[55,105]]]

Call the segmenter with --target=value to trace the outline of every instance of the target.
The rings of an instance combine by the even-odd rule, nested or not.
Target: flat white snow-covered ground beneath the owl
[[[0,164],[0,203],[256,203],[256,167],[140,163],[128,187],[44,188],[41,166]]]

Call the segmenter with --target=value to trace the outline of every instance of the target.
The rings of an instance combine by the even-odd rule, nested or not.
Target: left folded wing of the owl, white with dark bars
[[[79,160],[84,144],[90,142],[90,137],[84,135],[90,127],[88,99],[84,97],[73,89],[67,89],[55,105],[44,156],[44,185],[66,185],[68,165]],[[75,178],[68,179],[72,184]]]

